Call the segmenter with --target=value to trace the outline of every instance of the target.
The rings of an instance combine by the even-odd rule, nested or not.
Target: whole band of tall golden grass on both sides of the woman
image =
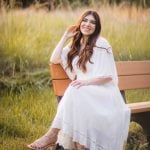
[[[76,23],[84,10],[2,12],[1,74],[10,70],[14,73],[47,67],[49,56],[64,30]],[[102,7],[98,12],[102,20],[102,36],[110,41],[116,60],[150,59],[149,10],[114,6]]]

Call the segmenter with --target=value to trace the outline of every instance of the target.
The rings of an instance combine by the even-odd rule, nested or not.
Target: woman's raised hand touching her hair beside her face
[[[79,31],[76,31],[76,29],[77,29],[77,26],[75,26],[75,25],[72,25],[72,26],[69,26],[67,29],[66,29],[66,31],[65,31],[65,33],[64,33],[64,37],[68,40],[68,39],[70,39],[70,38],[72,38],[72,37],[74,37]]]

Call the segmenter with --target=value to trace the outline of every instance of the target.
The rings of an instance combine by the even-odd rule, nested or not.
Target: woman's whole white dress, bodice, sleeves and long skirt
[[[69,47],[62,51],[62,66],[67,64]],[[58,142],[65,149],[73,149],[74,142],[90,150],[123,150],[130,122],[130,109],[125,105],[118,88],[118,77],[111,46],[99,37],[93,49],[91,63],[83,73],[73,60],[73,72],[65,69],[70,79],[88,80],[96,77],[112,77],[103,85],[69,86],[59,103],[52,123],[59,128]]]

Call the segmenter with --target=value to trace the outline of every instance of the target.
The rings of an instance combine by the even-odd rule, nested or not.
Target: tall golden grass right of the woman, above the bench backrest
[[[144,10],[111,8],[102,18],[103,34],[109,39],[116,60],[150,59],[150,17]]]

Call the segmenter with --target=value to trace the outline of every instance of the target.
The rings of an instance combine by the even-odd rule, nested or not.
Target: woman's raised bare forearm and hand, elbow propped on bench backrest
[[[61,53],[64,47],[65,42],[75,36],[77,33],[76,31],[76,26],[70,26],[62,36],[61,40],[57,44],[56,48],[54,49],[51,57],[50,57],[50,62],[54,64],[59,64],[61,63]]]

